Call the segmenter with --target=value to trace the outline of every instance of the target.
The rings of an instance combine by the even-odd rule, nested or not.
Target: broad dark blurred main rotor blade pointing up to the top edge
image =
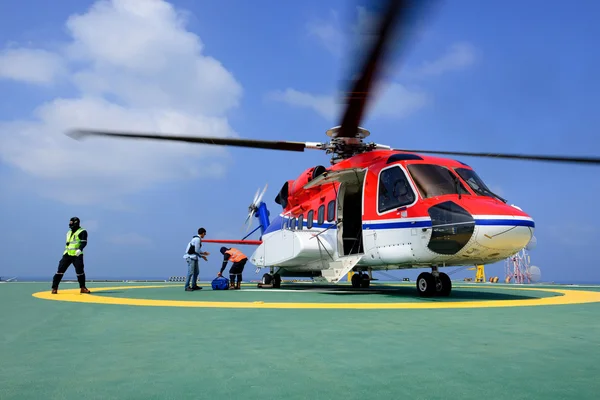
[[[377,21],[376,37],[365,52],[365,59],[353,81],[349,92],[345,95],[346,107],[342,113],[342,122],[336,137],[354,137],[363,118],[367,102],[372,98],[373,86],[381,72],[386,56],[386,47],[390,44],[394,30],[402,19],[406,22],[413,1],[386,0],[383,11]]]

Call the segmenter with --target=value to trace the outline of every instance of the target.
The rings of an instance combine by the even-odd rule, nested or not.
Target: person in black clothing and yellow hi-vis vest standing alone
[[[80,226],[81,221],[77,217],[69,220],[69,231],[67,232],[67,244],[63,256],[58,262],[58,270],[52,278],[52,293],[58,293],[58,285],[65,272],[71,264],[75,267],[79,291],[90,293],[85,287],[85,272],[83,270],[83,249],[87,246],[87,231]]]

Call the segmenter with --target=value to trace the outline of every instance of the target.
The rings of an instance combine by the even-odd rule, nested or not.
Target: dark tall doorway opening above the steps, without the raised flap
[[[355,182],[344,182],[337,201],[338,253],[341,256],[363,254],[362,203],[364,173]],[[328,214],[329,214],[329,210]],[[329,215],[328,215],[329,217]]]

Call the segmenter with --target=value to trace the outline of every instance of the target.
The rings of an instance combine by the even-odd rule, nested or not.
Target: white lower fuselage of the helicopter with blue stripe
[[[456,254],[431,251],[431,219],[397,218],[363,221],[364,252],[357,267],[378,269],[421,268],[489,264],[503,260],[524,248],[533,236],[533,220],[527,217],[474,215],[474,232]],[[306,224],[306,222],[305,222]],[[287,218],[279,215],[264,232],[263,243],[252,254],[257,267],[285,267],[286,270],[311,271],[328,268],[339,259],[339,229],[334,223],[311,229],[291,229]]]

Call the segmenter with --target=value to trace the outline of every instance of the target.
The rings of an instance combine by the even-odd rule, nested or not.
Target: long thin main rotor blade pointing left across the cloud
[[[127,139],[150,139],[150,140],[167,140],[186,143],[212,144],[217,146],[236,146],[250,147],[255,149],[270,149],[270,150],[285,150],[285,151],[304,151],[307,148],[307,143],[303,142],[285,142],[275,140],[255,140],[255,139],[230,139],[217,137],[192,137],[192,136],[171,136],[171,135],[154,135],[145,133],[126,133],[126,132],[109,132],[96,131],[87,129],[73,130],[67,135],[74,139],[85,138],[87,136],[110,136]],[[314,147],[311,147],[314,148]]]

